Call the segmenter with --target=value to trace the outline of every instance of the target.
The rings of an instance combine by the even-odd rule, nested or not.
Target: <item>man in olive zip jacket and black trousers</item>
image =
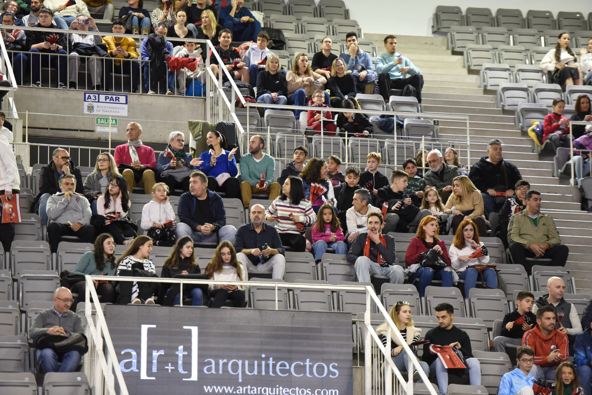
[[[526,193],[526,210],[513,215],[508,226],[508,242],[513,263],[521,264],[530,274],[533,264],[565,266],[570,249],[561,244],[555,221],[540,212],[540,192]],[[526,258],[551,259],[551,263],[527,261]]]

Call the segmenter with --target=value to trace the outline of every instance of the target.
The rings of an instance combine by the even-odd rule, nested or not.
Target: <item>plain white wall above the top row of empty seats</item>
[[[464,12],[467,7],[487,7],[493,14],[498,8],[519,8],[526,16],[529,9],[544,9],[553,12],[555,17],[559,11],[584,12],[587,18],[592,11],[589,0],[556,0],[515,1],[498,0],[421,0],[387,1],[387,0],[344,0],[349,8],[350,18],[358,21],[365,33],[395,35],[432,35],[432,15],[438,5],[455,5]]]

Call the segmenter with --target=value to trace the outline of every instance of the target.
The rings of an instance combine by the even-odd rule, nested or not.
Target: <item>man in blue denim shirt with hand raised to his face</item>
[[[350,31],[345,35],[345,41],[348,43],[348,48],[340,57],[348,71],[352,72],[358,91],[372,95],[378,79],[372,59],[368,53],[358,47],[358,33]]]

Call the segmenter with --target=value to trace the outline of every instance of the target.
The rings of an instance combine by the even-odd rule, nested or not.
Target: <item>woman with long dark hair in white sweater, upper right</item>
[[[553,83],[561,86],[582,85],[582,70],[578,57],[570,48],[570,34],[561,33],[557,45],[540,61],[540,68],[553,74]]]

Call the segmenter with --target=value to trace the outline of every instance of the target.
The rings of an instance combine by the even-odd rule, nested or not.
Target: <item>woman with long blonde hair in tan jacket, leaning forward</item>
[[[450,225],[449,234],[455,234],[463,219],[472,219],[477,225],[479,234],[487,235],[483,196],[469,177],[458,176],[452,180],[452,195],[444,206],[444,212],[455,215]]]

